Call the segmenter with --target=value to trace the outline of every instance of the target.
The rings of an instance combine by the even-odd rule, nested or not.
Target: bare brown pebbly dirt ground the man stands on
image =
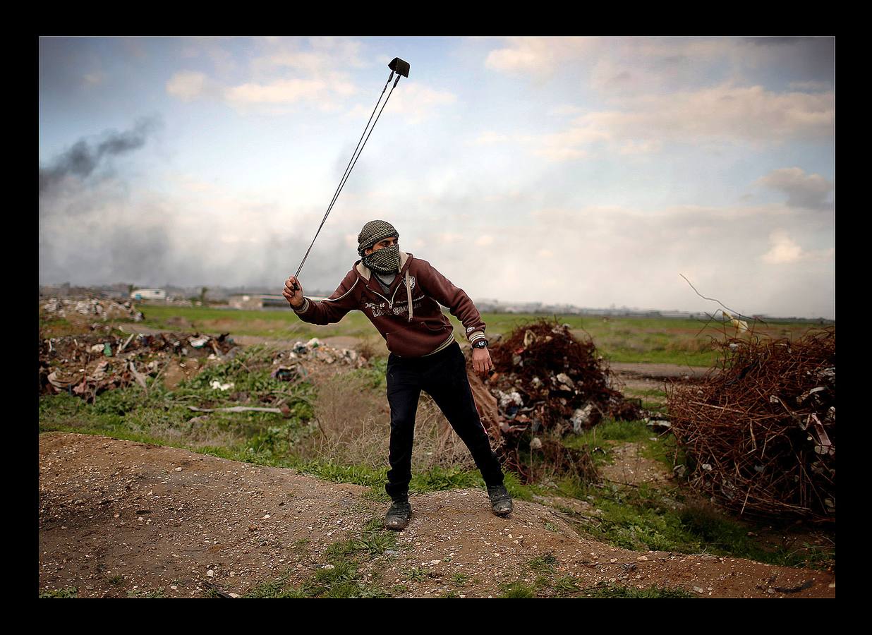
[[[78,597],[202,597],[206,584],[242,596],[280,574],[302,584],[327,564],[331,543],[358,536],[386,508],[358,485],[93,435],[42,434],[39,470],[39,588],[76,587]],[[568,516],[538,502],[517,501],[497,518],[477,489],[411,500],[397,546],[360,569],[364,580],[403,585],[398,596],[496,597],[501,584],[532,583],[530,561],[553,553],[554,575],[582,588],[835,597],[828,572],[617,549],[580,538]]]

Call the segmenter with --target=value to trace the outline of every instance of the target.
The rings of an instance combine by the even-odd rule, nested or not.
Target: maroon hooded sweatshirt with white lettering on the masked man
[[[358,260],[330,297],[321,302],[307,297],[294,311],[303,322],[330,324],[358,309],[385,338],[390,352],[414,358],[441,351],[454,341],[453,327],[440,304],[460,320],[471,344],[485,337],[485,323],[464,290],[455,287],[426,260],[402,251],[399,276],[387,295],[371,270]]]

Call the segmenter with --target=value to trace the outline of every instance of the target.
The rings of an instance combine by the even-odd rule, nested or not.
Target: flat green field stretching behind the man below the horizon
[[[141,304],[145,324],[154,328],[229,332],[232,335],[252,335],[276,339],[309,339],[349,336],[378,339],[378,332],[360,311],[351,311],[338,324],[317,326],[306,324],[289,311],[234,311],[211,307],[184,307]],[[538,318],[519,313],[483,313],[489,334],[507,334],[515,327]],[[725,337],[722,324],[706,324],[702,320],[667,318],[596,318],[576,315],[556,316],[561,324],[569,324],[577,337],[587,333],[604,358],[612,362],[680,364],[710,366],[716,359],[712,338]],[[449,316],[455,335],[463,339],[460,322]],[[807,323],[757,324],[754,332],[776,338],[798,338],[809,329]],[[728,335],[733,334],[728,329]]]

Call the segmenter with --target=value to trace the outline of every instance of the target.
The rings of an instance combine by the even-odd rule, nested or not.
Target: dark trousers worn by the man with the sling
[[[409,493],[412,480],[412,440],[421,391],[433,397],[454,432],[469,448],[488,486],[502,484],[502,468],[491,450],[487,431],[475,409],[467,379],[467,363],[454,342],[445,350],[423,358],[387,361],[387,400],[391,405],[391,469],[385,491],[392,498]]]

